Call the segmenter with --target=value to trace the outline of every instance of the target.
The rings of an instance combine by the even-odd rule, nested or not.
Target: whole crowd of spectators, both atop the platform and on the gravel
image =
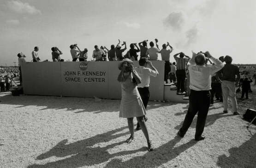
[[[148,150],[152,151],[153,146],[149,137],[149,131],[146,126],[146,109],[149,101],[150,76],[157,76],[158,70],[155,69],[151,60],[158,60],[158,53],[161,54],[161,60],[165,61],[164,81],[165,83],[176,83],[177,94],[187,94],[189,96],[189,108],[185,116],[182,127],[177,133],[179,137],[184,137],[188,128],[191,126],[194,116],[197,114],[195,140],[203,140],[202,135],[206,122],[209,106],[214,104],[214,96],[220,102],[223,102],[223,113],[228,113],[228,98],[232,102],[233,115],[239,115],[236,100],[236,87],[242,87],[242,96],[248,98],[250,83],[256,79],[256,73],[252,79],[248,73],[240,72],[239,67],[232,64],[232,57],[214,58],[209,52],[192,52],[192,58],[183,52],[173,55],[175,62],[170,62],[170,54],[173,47],[167,42],[159,49],[155,39],[149,42],[144,40],[138,43],[131,43],[130,49],[127,49],[126,42],[120,45],[120,40],[116,46],[111,45],[110,49],[106,46],[95,45],[92,57],[95,61],[119,61],[120,70],[118,81],[121,84],[122,98],[120,104],[119,117],[127,118],[130,137],[126,140],[131,143],[134,139],[133,118],[137,118],[136,130],[142,129],[147,140]],[[122,48],[124,46],[124,48]],[[169,47],[169,48],[168,48]],[[168,48],[168,49],[167,49]],[[39,62],[39,47],[35,47],[32,52],[33,62]],[[79,49],[77,44],[70,46],[72,61],[87,61],[88,50]],[[138,60],[138,52],[140,58]],[[52,47],[52,59],[54,62],[64,61],[60,59],[62,52],[58,47]],[[18,53],[19,67],[25,62],[23,53]],[[133,61],[137,61],[139,67],[134,67]],[[224,62],[226,63],[224,65]],[[20,75],[21,77],[21,75]],[[22,78],[20,78],[22,83]],[[177,81],[177,82],[176,82]],[[256,82],[255,82],[256,83]]]

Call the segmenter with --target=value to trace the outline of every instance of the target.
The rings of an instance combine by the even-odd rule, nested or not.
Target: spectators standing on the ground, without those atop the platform
[[[187,85],[189,85],[189,108],[177,135],[180,138],[185,136],[197,114],[195,140],[203,140],[205,136],[202,133],[209,107],[214,102],[214,96],[223,102],[223,113],[228,113],[228,98],[230,98],[233,115],[239,115],[235,96],[236,86],[242,87],[242,98],[244,94],[248,98],[252,80],[248,80],[246,76],[240,78],[239,67],[232,64],[232,57],[228,55],[218,59],[214,58],[209,52],[192,52],[192,58],[190,58],[180,52],[175,54],[174,58],[177,67],[175,67],[175,64],[168,63],[170,67],[166,68],[167,66],[165,66],[165,71],[169,70],[168,80],[175,81],[175,78],[177,78],[177,93],[185,90],[186,75],[189,79],[187,82]],[[132,60],[128,58],[119,62],[119,70],[121,71],[118,81],[122,88],[119,117],[127,118],[131,135],[126,142],[131,143],[134,139],[133,118],[136,117],[138,121],[136,130],[142,129],[147,140],[148,150],[152,151],[153,145],[145,123],[148,118],[145,115],[150,95],[150,76],[158,75],[158,71],[145,57],[139,59],[139,67],[133,65]],[[253,78],[256,78],[256,74],[253,75]]]

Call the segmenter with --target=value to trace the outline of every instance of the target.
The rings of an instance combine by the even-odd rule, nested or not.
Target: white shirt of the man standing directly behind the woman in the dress
[[[137,74],[141,77],[141,83],[137,87],[149,87],[150,76],[156,77],[158,72],[151,70],[150,68],[145,68],[144,66],[139,66],[135,68]]]

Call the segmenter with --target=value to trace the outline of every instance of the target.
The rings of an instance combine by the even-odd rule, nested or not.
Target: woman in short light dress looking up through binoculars
[[[149,133],[144,121],[146,110],[137,89],[137,84],[141,82],[141,78],[135,70],[133,70],[133,62],[130,59],[124,59],[119,63],[121,70],[118,81],[121,83],[122,99],[120,104],[119,117],[127,118],[128,127],[131,136],[126,140],[130,144],[134,139],[133,117],[137,118],[141,129],[147,139],[148,150],[153,151],[152,143],[149,140]]]

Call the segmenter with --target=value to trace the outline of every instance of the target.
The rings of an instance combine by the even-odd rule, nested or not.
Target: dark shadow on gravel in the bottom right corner
[[[228,150],[229,156],[218,157],[220,168],[255,168],[256,167],[256,134],[239,147]]]

